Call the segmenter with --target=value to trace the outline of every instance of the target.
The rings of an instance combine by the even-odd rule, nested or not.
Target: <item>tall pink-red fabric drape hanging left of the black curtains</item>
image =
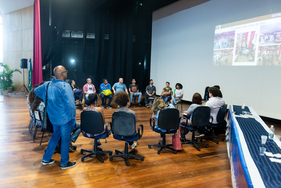
[[[32,86],[43,81],[41,58],[41,27],[40,27],[40,3],[34,0],[33,5],[33,75]]]

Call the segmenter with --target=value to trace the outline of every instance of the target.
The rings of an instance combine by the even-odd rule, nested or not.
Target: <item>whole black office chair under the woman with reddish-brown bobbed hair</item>
[[[210,124],[210,122],[209,122],[210,117],[213,118],[212,116],[210,116],[210,113],[211,113],[210,107],[197,107],[194,109],[194,111],[192,113],[191,123],[194,126],[197,126],[199,128],[185,126],[186,129],[188,129],[188,130],[190,130],[190,132],[192,132],[192,137],[191,137],[191,141],[181,138],[181,141],[183,142],[182,145],[183,144],[192,144],[198,151],[200,151],[200,148],[198,145],[205,145],[206,148],[209,147],[209,144],[203,143],[203,142],[198,142],[198,139],[195,139],[195,131],[201,130],[202,127],[205,127],[206,125]],[[185,117],[183,117],[183,118],[186,119],[186,124],[187,124],[188,119]]]

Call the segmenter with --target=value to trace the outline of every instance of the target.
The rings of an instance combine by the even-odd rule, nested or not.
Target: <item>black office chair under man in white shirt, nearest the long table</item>
[[[202,142],[202,139],[210,139],[212,141],[214,141],[216,144],[218,144],[218,140],[217,139],[222,139],[222,141],[224,141],[225,137],[218,137],[218,136],[213,136],[213,129],[214,128],[218,128],[222,125],[224,118],[225,118],[225,114],[226,114],[226,110],[227,110],[227,104],[223,105],[222,107],[219,108],[218,110],[218,114],[217,114],[217,124],[210,124],[207,126],[207,128],[210,129],[210,135],[206,136],[206,137],[202,137],[200,138],[200,141]]]

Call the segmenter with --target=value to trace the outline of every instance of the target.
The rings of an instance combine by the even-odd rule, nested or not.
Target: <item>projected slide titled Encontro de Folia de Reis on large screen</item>
[[[213,65],[281,65],[281,13],[215,27]]]

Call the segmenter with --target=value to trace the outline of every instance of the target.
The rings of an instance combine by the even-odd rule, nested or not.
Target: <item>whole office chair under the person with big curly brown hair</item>
[[[115,149],[115,154],[113,156],[109,156],[109,160],[112,161],[115,157],[125,157],[126,165],[129,166],[128,157],[137,157],[143,161],[143,156],[134,155],[136,150],[128,152],[128,141],[137,141],[143,136],[143,125],[140,124],[138,126],[138,132],[136,133],[136,125],[134,123],[134,115],[129,112],[114,112],[112,114],[112,133],[113,138],[117,140],[125,141],[125,150],[120,151]],[[107,125],[110,122],[107,123]],[[110,123],[111,124],[111,123]],[[142,128],[142,132],[140,134],[140,128]],[[118,154],[119,153],[119,154]]]

